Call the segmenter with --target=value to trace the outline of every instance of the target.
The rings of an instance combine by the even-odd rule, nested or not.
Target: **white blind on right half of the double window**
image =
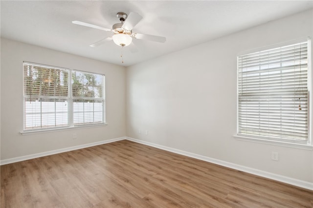
[[[104,75],[81,71],[72,73],[74,125],[102,124],[104,121]]]

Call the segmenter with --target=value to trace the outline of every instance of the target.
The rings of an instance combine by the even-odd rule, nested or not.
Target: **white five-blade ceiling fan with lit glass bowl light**
[[[111,32],[111,34],[106,36],[104,39],[91,44],[90,45],[91,47],[96,47],[105,42],[112,41],[112,40],[115,44],[124,47],[124,46],[128,46],[129,44],[131,44],[133,38],[148,40],[148,41],[155,41],[155,42],[166,41],[165,37],[133,33],[132,30],[134,26],[142,19],[142,17],[139,14],[135,12],[131,12],[129,15],[127,15],[124,12],[118,12],[116,16],[119,19],[119,21],[121,21],[121,23],[113,24],[112,29],[104,28],[104,27],[90,24],[90,23],[83,22],[83,21],[72,21],[72,23]]]

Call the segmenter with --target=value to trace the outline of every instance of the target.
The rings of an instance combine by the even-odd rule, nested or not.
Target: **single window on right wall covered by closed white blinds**
[[[238,135],[308,142],[309,45],[299,42],[238,57]]]

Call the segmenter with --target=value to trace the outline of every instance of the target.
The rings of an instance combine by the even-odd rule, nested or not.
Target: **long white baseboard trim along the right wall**
[[[210,158],[210,157],[206,157],[206,156],[202,156],[202,155],[198,155],[195,153],[191,153],[191,152],[186,152],[186,151],[182,151],[179,149],[175,149],[175,148],[171,148],[171,147],[167,147],[167,146],[161,146],[161,145],[157,145],[154,143],[150,143],[150,142],[146,142],[146,141],[142,141],[142,140],[138,140],[138,139],[134,139],[134,138],[130,138],[130,137],[126,137],[127,140],[132,141],[132,142],[136,142],[136,143],[140,143],[143,145],[147,145],[147,146],[153,146],[159,149],[163,149],[166,151],[170,151],[170,152],[174,152],[180,155],[185,155],[191,158],[195,158],[195,159],[199,159],[202,161],[206,161],[209,163],[214,163],[220,166],[225,166],[225,167],[229,167],[232,169],[236,169],[236,170],[240,170],[240,171],[244,171],[247,173],[251,173],[253,175],[257,175],[257,176],[261,176],[261,177],[265,177],[268,179],[272,179],[275,181],[279,181],[279,182],[283,182],[286,184],[291,184],[293,186],[297,186],[297,187],[302,187],[302,188],[306,188],[309,190],[313,190],[313,183],[307,182],[307,181],[302,181],[302,180],[298,180],[298,179],[294,179],[294,178],[290,178],[290,177],[286,177],[283,175],[278,175],[278,174],[274,174],[274,173],[270,173],[267,171],[263,171],[263,170],[259,170],[259,169],[254,169],[251,167],[247,167],[247,166],[241,166],[241,165],[237,165],[234,163],[229,163],[223,160],[217,160],[214,158]]]

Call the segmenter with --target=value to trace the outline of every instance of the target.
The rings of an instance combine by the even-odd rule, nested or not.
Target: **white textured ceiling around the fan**
[[[1,37],[75,55],[129,66],[164,54],[208,42],[249,27],[312,8],[313,1],[4,1]],[[133,32],[166,37],[165,43],[133,40],[124,48],[113,42],[89,45],[106,31],[72,24],[85,21],[106,28],[118,23],[117,12],[136,12],[143,19]],[[137,50],[134,52],[134,50]]]

